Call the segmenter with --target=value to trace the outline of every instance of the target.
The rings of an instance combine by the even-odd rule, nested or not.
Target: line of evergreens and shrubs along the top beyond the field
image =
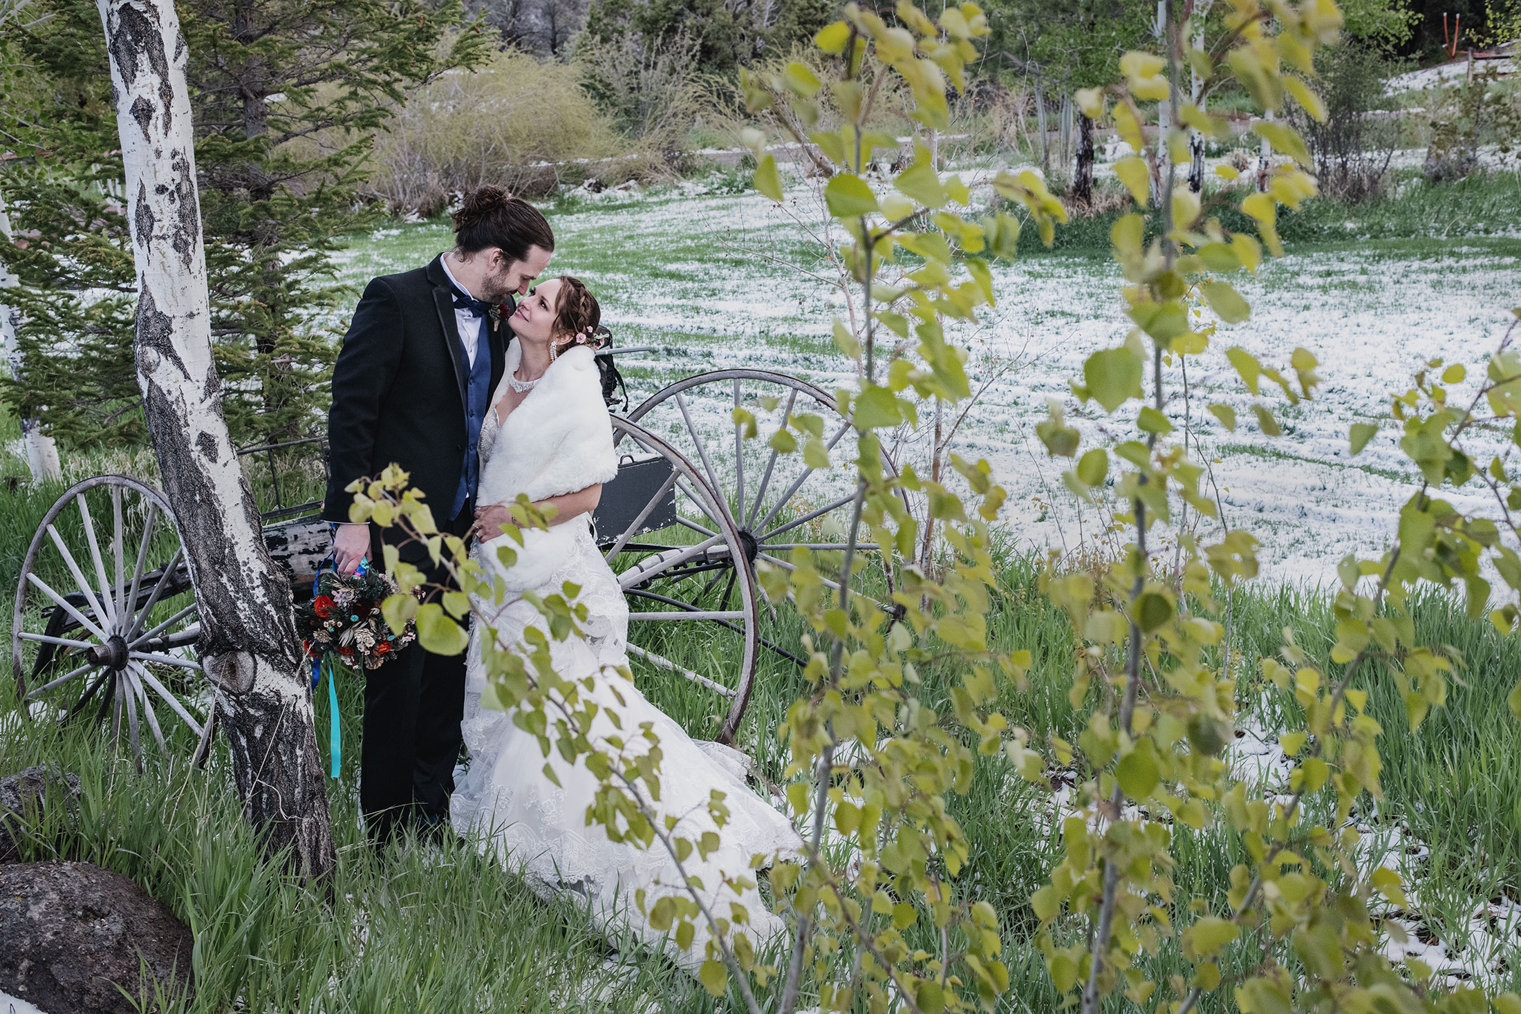
[[[1509,11],[1488,2],[1465,15],[1475,33]],[[1191,6],[1200,41],[1218,38],[1227,5]],[[583,179],[689,172],[687,152],[732,147],[747,125],[739,74],[805,53],[834,5],[190,0],[179,12],[218,368],[234,441],[248,447],[319,429],[333,321],[353,298],[329,271],[345,236],[386,214],[432,217],[485,181],[546,196]],[[995,149],[1039,161],[1074,211],[1118,207],[1113,185],[1094,187],[1113,132],[1100,137],[1072,94],[1112,81],[1127,50],[1154,44],[1154,5],[993,0],[987,23],[980,84],[954,94],[945,135],[972,137],[975,149],[992,131]],[[1331,116],[1297,125],[1325,193],[1378,192],[1399,137],[1373,112],[1399,61],[1430,49],[1431,26],[1430,12],[1402,0],[1348,5],[1348,44],[1317,58]],[[132,263],[99,17],[82,0],[27,0],[0,46],[0,196],[14,225],[0,261],[20,281],[3,298],[18,324],[18,369],[0,380],[0,397],[65,448],[141,442]],[[1229,84],[1208,99],[1238,122],[1235,138],[1209,138],[1211,154],[1241,144],[1246,99]],[[1462,175],[1472,163],[1494,111],[1481,97],[1471,105],[1457,102],[1448,116],[1437,172]],[[903,108],[884,102],[879,129],[913,132]],[[762,125],[783,134],[773,120]],[[1197,190],[1206,138],[1196,132],[1194,144]]]

